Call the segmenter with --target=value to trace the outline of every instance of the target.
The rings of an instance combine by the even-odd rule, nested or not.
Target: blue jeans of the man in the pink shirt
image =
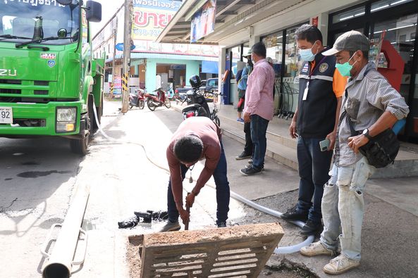
[[[266,156],[266,132],[269,120],[266,120],[259,115],[251,115],[250,119],[251,140],[254,146],[254,151],[252,153],[252,168],[262,170],[262,168],[264,168],[264,156]]]

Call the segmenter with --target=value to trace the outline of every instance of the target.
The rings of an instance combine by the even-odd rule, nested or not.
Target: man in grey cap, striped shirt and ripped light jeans
[[[341,254],[324,266],[328,274],[357,267],[361,258],[363,191],[376,168],[359,153],[359,147],[409,113],[405,99],[376,70],[374,63],[368,62],[368,51],[367,37],[350,31],[338,37],[333,49],[323,53],[335,55],[341,75],[351,77],[345,87],[341,112],[345,110],[350,115],[352,125],[359,132],[352,136],[348,117],[340,117],[331,179],[325,184],[322,198],[324,232],[320,241],[300,250],[302,255],[333,255],[339,237]]]

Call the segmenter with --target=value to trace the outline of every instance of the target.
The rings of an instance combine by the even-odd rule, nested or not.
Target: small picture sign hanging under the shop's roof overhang
[[[215,30],[216,0],[208,0],[193,15],[190,30],[190,42],[197,42]]]

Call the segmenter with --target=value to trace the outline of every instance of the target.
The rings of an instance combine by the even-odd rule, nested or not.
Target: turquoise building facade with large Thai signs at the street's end
[[[192,75],[200,75],[202,79],[217,77],[217,67],[204,69],[208,63],[218,64],[218,46],[154,42],[181,4],[182,1],[133,1],[129,87],[153,91],[158,87],[184,87]],[[105,91],[113,84],[115,95],[121,94],[123,23],[124,6],[121,6],[93,38],[94,56],[106,53]]]

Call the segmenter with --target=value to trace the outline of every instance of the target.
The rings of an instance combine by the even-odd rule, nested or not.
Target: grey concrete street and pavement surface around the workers
[[[116,141],[96,134],[85,158],[70,153],[66,139],[0,139],[0,277],[40,276],[45,260],[39,248],[49,227],[63,221],[75,188],[82,185],[90,187],[82,224],[89,240],[85,264],[74,267],[73,277],[128,277],[126,236],[156,232],[163,223],[118,229],[117,222],[133,216],[134,211],[166,209],[168,173],[161,168],[167,167],[166,146],[182,118],[176,110],[166,108],[154,112],[133,108],[122,115],[119,106],[106,101],[102,118],[106,134]],[[297,172],[267,158],[262,175],[244,177],[238,170],[245,160],[235,160],[242,144],[228,137],[223,137],[223,144],[232,191],[282,212],[293,206]],[[194,180],[200,169],[202,164],[192,171]],[[418,196],[417,179],[393,184],[405,196]],[[184,185],[189,191],[193,186],[186,180]],[[385,190],[376,181],[373,189]],[[399,202],[396,196],[382,196],[366,194],[362,265],[341,277],[417,277],[417,215],[408,212],[413,208],[394,206],[392,203]],[[214,189],[205,187],[191,210],[190,229],[214,227],[215,200]],[[230,202],[228,225],[272,221],[281,222],[285,229],[281,246],[303,240],[295,226],[238,201]],[[82,245],[75,258],[80,258]],[[325,277],[321,267],[328,259],[297,253],[273,255],[268,265],[287,263]]]

